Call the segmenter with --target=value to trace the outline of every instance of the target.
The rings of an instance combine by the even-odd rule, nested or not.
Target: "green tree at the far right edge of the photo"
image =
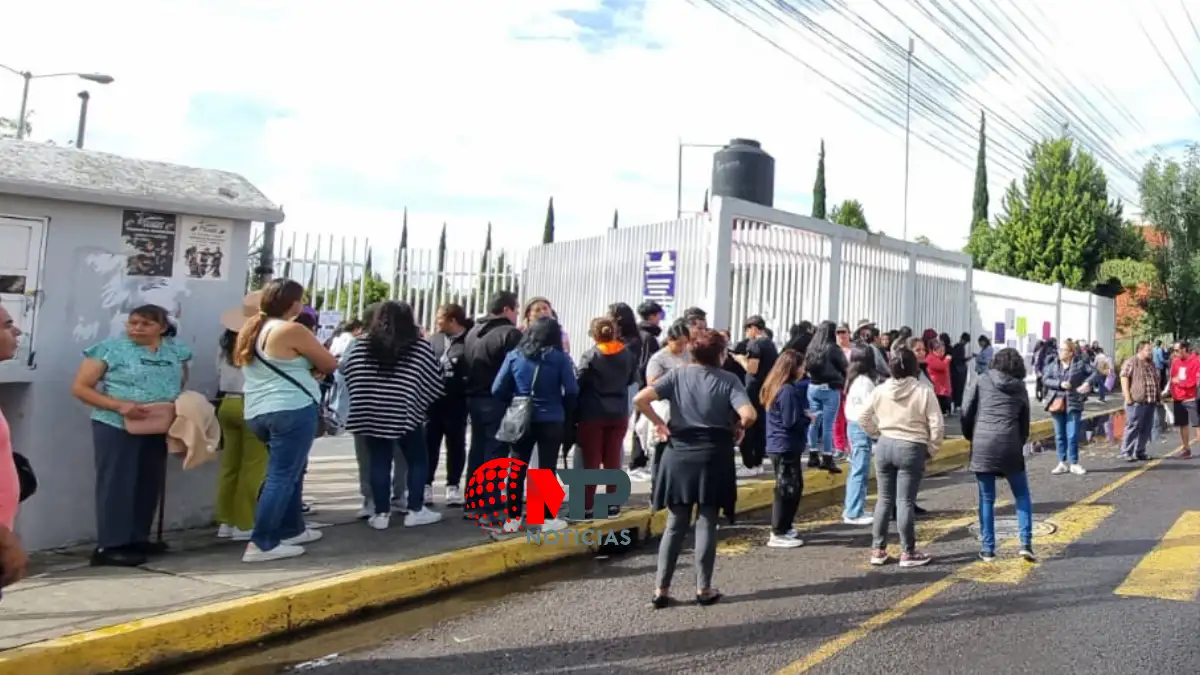
[[[1154,267],[1146,313],[1156,334],[1175,339],[1200,335],[1200,147],[1183,163],[1156,156],[1139,184],[1142,213],[1162,241],[1150,258]]]

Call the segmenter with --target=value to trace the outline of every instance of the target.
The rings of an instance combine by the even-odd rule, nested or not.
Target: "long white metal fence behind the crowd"
[[[1111,298],[971,269],[971,258],[845,228],[739,199],[713,199],[692,217],[610,229],[598,237],[536,246],[528,252],[380,246],[366,239],[277,233],[276,275],[310,288],[318,310],[361,315],[366,304],[402,299],[433,327],[443,303],[486,313],[487,298],[510,289],[522,301],[546,297],[572,336],[575,356],[588,347],[593,317],[612,303],[643,299],[649,252],[673,252],[668,315],[701,306],[709,324],[740,329],[762,316],[782,339],[803,321],[881,328],[935,328],[952,335],[994,335],[1026,348],[1049,324],[1055,338],[1099,340],[1111,348]],[[367,274],[370,271],[370,274]]]

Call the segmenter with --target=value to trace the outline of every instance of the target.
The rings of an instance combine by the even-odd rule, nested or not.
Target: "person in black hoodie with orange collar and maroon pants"
[[[618,339],[617,323],[610,317],[592,319],[589,330],[595,345],[580,358],[578,443],[584,468],[620,468],[620,450],[629,429],[629,388],[637,380],[637,359]],[[588,518],[595,486],[584,489]],[[616,490],[608,485],[607,491]],[[612,516],[614,509],[607,515]]]

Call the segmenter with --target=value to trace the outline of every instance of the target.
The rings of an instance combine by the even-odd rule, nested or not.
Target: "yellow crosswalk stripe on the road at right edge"
[[[1154,550],[1114,591],[1118,596],[1190,602],[1200,591],[1200,510],[1184,512]]]

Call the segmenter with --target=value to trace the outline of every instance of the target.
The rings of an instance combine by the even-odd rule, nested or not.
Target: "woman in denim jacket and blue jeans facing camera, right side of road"
[[[1058,465],[1050,473],[1087,473],[1079,464],[1079,435],[1084,402],[1092,392],[1090,382],[1094,376],[1096,369],[1080,358],[1079,346],[1072,340],[1063,342],[1058,358],[1048,363],[1042,372],[1045,410],[1054,420],[1054,442],[1058,453]]]

